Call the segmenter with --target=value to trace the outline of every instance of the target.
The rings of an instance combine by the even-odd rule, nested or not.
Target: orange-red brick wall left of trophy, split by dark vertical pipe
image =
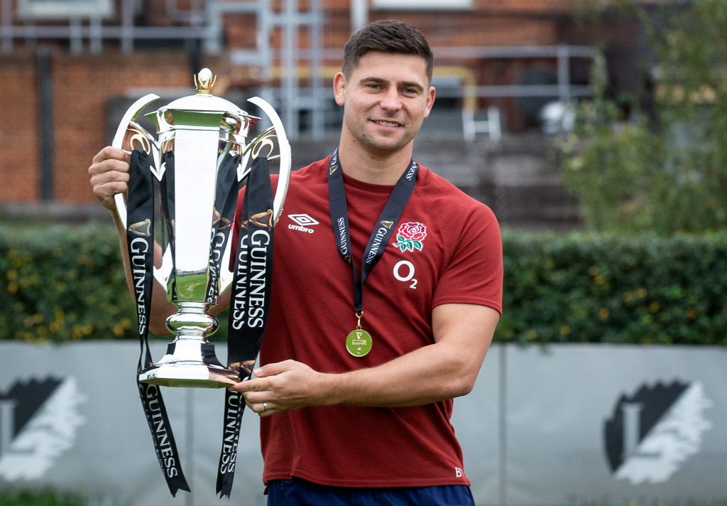
[[[123,97],[134,88],[161,91],[192,84],[188,55],[181,51],[124,55],[106,50],[97,56],[72,56],[57,50],[51,60],[53,114],[39,119],[35,56],[0,58],[7,82],[16,84],[0,94],[0,110],[4,111],[0,122],[2,203],[36,202],[39,198],[39,121],[55,125],[55,201],[90,202],[87,168],[97,151],[111,142],[108,100]],[[224,72],[221,63],[216,63]]]

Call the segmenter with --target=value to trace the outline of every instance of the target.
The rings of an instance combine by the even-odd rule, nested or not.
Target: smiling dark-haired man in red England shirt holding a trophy
[[[292,175],[286,215],[317,223],[276,227],[261,365],[231,387],[262,417],[268,505],[474,505],[449,418],[502,311],[502,245],[488,207],[411,158],[432,62],[405,23],[355,33],[339,148]],[[126,157],[89,174],[111,209]]]

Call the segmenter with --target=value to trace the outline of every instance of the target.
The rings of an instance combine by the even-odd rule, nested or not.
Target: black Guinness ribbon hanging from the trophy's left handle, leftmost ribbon
[[[155,384],[139,382],[143,369],[153,365],[149,350],[149,311],[154,267],[154,184],[148,154],[132,151],[129,165],[129,191],[126,204],[126,244],[134,286],[137,323],[141,351],[137,364],[137,387],[154,442],[156,457],[164,472],[166,485],[172,496],[177,491],[189,491],[182,473],[177,444],[174,442],[164,400]]]

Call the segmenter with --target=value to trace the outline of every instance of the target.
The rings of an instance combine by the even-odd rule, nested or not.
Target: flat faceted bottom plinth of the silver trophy
[[[239,382],[230,369],[205,363],[156,364],[139,375],[142,383],[162,387],[226,388]]]

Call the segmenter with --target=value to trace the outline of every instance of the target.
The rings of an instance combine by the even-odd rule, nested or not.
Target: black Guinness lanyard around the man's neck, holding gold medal
[[[331,161],[328,164],[328,198],[329,207],[331,208],[331,220],[333,224],[333,234],[336,237],[338,245],[338,253],[343,260],[350,264],[353,269],[353,309],[356,311],[356,317],[359,321],[361,315],[364,314],[364,283],[366,277],[369,276],[371,270],[377,264],[379,259],[386,250],[389,237],[394,230],[395,224],[398,223],[399,217],[406,207],[406,202],[414,191],[417,183],[417,172],[419,165],[411,159],[409,167],[403,172],[399,180],[396,182],[394,189],[391,191],[389,199],[384,206],[374,226],[369,243],[364,250],[364,256],[361,260],[361,277],[358,276],[356,266],[353,265],[353,256],[351,256],[351,238],[348,227],[348,205],[346,205],[346,191],[343,186],[343,173],[341,164],[338,160],[338,150],[331,155]]]

